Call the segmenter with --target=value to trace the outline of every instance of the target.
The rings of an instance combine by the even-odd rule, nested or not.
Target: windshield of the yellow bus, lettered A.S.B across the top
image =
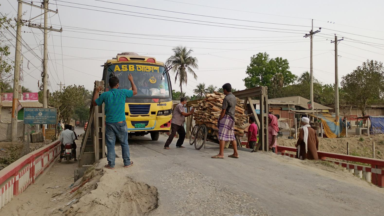
[[[133,76],[137,87],[137,95],[144,98],[170,98],[169,77],[163,66],[146,64],[115,64],[108,67],[106,85],[108,91],[109,76],[114,74],[119,78],[119,88],[132,90],[128,74]]]

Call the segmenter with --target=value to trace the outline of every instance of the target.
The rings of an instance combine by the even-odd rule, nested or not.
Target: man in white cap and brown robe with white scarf
[[[310,119],[307,117],[301,118],[301,125],[299,139],[297,140],[297,154],[296,158],[300,160],[319,160],[317,150],[319,148],[319,139],[317,138],[316,131],[310,126]]]

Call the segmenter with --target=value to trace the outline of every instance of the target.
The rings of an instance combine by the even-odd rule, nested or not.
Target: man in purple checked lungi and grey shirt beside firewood
[[[223,100],[220,118],[217,122],[220,151],[218,155],[212,156],[212,158],[224,158],[225,141],[231,141],[233,148],[233,155],[228,155],[228,157],[239,158],[237,154],[235,132],[233,130],[233,127],[235,126],[236,97],[232,94],[232,86],[229,83],[223,85],[223,92],[225,98]]]

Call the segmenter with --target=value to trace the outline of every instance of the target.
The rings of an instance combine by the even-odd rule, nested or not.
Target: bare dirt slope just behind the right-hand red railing
[[[279,137],[278,145],[294,147],[297,140]],[[384,159],[384,136],[350,136],[343,138],[319,138],[319,151],[338,154],[347,154],[347,143],[349,144],[349,155],[372,158],[372,143],[375,142],[375,158]]]

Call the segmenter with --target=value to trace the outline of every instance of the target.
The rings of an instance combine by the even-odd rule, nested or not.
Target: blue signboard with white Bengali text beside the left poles
[[[56,120],[56,108],[24,108],[24,124],[55,125]]]

